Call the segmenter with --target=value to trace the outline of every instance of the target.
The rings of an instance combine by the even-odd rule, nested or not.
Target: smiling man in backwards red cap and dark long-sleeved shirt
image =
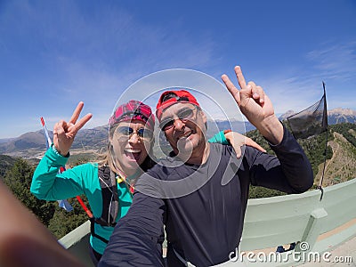
[[[139,179],[99,266],[163,266],[164,225],[168,266],[228,262],[239,247],[250,182],[287,193],[312,186],[312,166],[263,88],[246,84],[239,67],[235,72],[240,90],[226,75],[223,82],[277,158],[246,147],[244,157],[234,159],[230,146],[206,142],[206,116],[190,93],[163,93],[157,117],[173,152]]]

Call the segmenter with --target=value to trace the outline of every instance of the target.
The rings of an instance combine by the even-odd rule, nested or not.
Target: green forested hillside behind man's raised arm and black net
[[[288,125],[286,125],[288,128]],[[356,124],[344,123],[328,126],[327,168],[324,175],[323,187],[344,182],[356,177]],[[263,146],[269,153],[273,153],[268,143],[257,130],[247,133],[247,136]],[[307,139],[298,139],[305,154],[312,164],[314,187],[319,185],[325,158],[326,133]],[[337,150],[336,150],[337,149]],[[333,157],[334,155],[334,157]],[[276,190],[256,188],[251,186],[250,198],[266,198],[278,196]]]

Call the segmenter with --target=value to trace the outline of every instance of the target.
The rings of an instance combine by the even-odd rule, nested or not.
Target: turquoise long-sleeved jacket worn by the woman
[[[209,142],[229,143],[223,132],[215,134]],[[45,152],[44,158],[41,159],[36,167],[31,183],[31,192],[36,198],[44,200],[74,198],[84,194],[89,201],[89,206],[94,217],[100,217],[102,213],[102,196],[98,179],[98,164],[86,163],[58,174],[60,167],[65,166],[68,159],[69,156],[61,156],[52,145]],[[132,196],[125,182],[117,184],[117,193],[119,199],[118,221],[121,217],[125,216],[131,206]],[[109,240],[114,231],[113,227],[105,227],[97,223],[94,224],[94,227],[95,233],[107,240]],[[107,245],[93,236],[90,237],[90,244],[101,255],[104,253]]]

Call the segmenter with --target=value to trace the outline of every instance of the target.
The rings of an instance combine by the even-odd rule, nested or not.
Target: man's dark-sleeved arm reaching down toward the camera
[[[117,223],[99,266],[164,266],[165,208],[162,199],[136,191],[133,204]]]

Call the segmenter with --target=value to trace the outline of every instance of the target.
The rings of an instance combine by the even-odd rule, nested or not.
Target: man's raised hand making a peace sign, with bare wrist
[[[278,117],[274,114],[271,100],[263,92],[261,86],[254,82],[245,81],[242,70],[239,66],[235,67],[236,77],[239,87],[232,84],[227,75],[223,75],[223,83],[229,90],[235,101],[239,105],[241,112],[247,117],[248,121],[255,125],[261,134],[273,144],[278,144],[283,139],[283,126],[279,123]]]

